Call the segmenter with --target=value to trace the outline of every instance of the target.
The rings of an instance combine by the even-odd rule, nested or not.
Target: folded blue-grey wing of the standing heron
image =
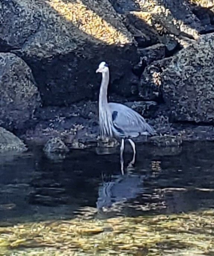
[[[154,129],[136,111],[119,103],[108,103],[112,121],[117,131],[126,137],[137,137],[140,134],[154,134]]]

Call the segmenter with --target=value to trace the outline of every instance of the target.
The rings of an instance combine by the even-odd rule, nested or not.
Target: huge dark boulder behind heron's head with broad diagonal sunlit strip
[[[44,105],[97,100],[95,70],[102,60],[111,68],[116,85],[111,90],[132,95],[136,47],[109,1],[8,0],[0,5],[3,50],[10,48],[31,67]]]

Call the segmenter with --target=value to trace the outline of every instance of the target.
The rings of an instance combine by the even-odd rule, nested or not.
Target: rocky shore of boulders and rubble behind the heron
[[[109,101],[161,134],[148,142],[214,140],[212,1],[2,0],[0,19],[0,150],[7,131],[96,146],[102,60]]]

